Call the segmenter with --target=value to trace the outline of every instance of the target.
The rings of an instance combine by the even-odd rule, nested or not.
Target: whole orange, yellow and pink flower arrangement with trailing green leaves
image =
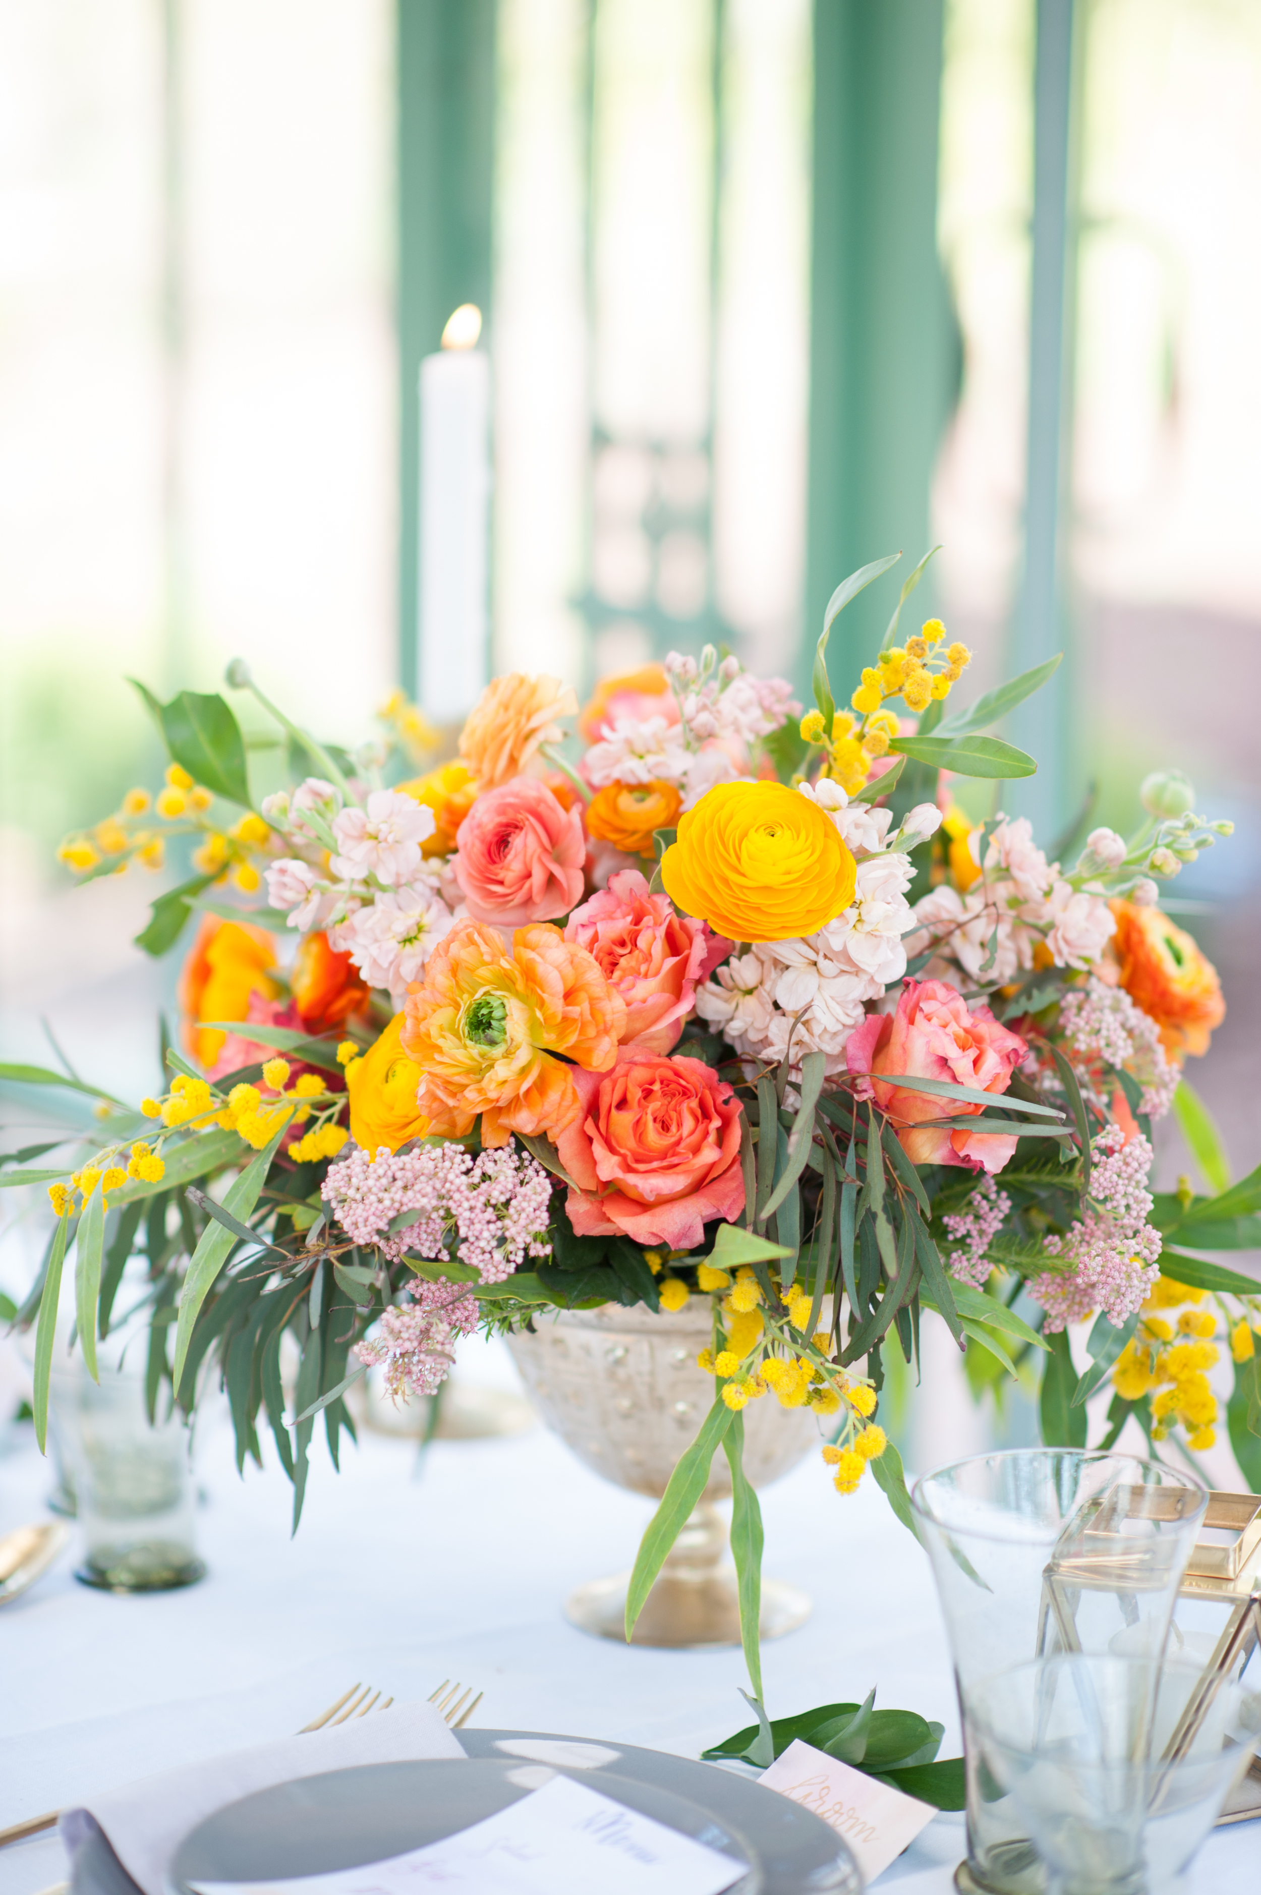
[[[705,648],[605,678],[584,711],[554,678],[501,677],[451,760],[394,697],[351,754],[233,663],[290,762],[256,800],[226,697],[144,694],[165,786],[61,853],[87,879],[192,838],[193,874],[138,938],[161,953],[195,921],[184,1037],[138,1114],[101,1093],[85,1154],[6,1173],[47,1182],[57,1211],[23,1311],[40,1438],[72,1241],[89,1368],[140,1253],[152,1397],[169,1383],[192,1412],[222,1381],[241,1463],[265,1416],[296,1518],[315,1419],[336,1459],[370,1364],[432,1393],[478,1326],[704,1298],[713,1408],[628,1628],[722,1446],[758,1698],[741,1410],[813,1410],[840,1493],[870,1469],[910,1524],[882,1349],[914,1361],[925,1311],[978,1385],[1041,1357],[1049,1442],[1085,1440],[1111,1378],[1107,1442],[1134,1417],[1157,1452],[1212,1442],[1225,1323],[1231,1438],[1261,1484],[1257,1285],[1195,1254],[1259,1241],[1261,1173],[1229,1188],[1179,1080],[1223,1001],[1159,906],[1229,824],[1170,771],[1134,836],[1094,828],[1071,866],[1049,858],[996,807],[1033,758],[988,731],[1056,661],[954,709],[967,648],[937,620],[899,642],[923,561],[838,709],[831,627],[889,565],[832,597],[806,714]],[[961,777],[996,785],[994,813],[963,813]],[[1176,1099],[1215,1196],[1149,1190],[1151,1122]],[[1066,1328],[1088,1317],[1079,1374]]]

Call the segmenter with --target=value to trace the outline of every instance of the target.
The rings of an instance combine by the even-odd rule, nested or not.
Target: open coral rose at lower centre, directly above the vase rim
[[[690,1251],[707,1218],[740,1217],[740,1101],[711,1067],[622,1048],[612,1073],[571,1067],[571,1078],[582,1109],[556,1146],[578,1186],[565,1209],[580,1237]]]

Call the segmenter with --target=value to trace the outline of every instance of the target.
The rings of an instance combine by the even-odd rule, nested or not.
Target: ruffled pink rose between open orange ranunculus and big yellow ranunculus
[[[732,951],[705,921],[675,913],[667,894],[650,894],[637,868],[609,877],[609,887],[575,908],[565,929],[599,963],[626,1001],[622,1044],[667,1054],[683,1033],[698,982]]]

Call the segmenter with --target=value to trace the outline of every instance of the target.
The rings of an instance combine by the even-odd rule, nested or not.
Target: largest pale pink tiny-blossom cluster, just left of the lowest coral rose
[[[463,1145],[381,1148],[375,1158],[356,1150],[330,1165],[324,1198],[347,1236],[391,1262],[415,1251],[446,1264],[453,1245],[484,1283],[503,1283],[525,1256],[552,1253],[552,1179],[510,1145],[476,1156]],[[406,1211],[415,1220],[391,1230]]]

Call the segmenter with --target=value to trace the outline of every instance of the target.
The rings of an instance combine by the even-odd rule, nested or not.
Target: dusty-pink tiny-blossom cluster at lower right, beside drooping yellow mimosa
[[[1083,1323],[1104,1309],[1117,1326],[1147,1302],[1160,1268],[1160,1232],[1147,1222],[1151,1145],[1128,1141],[1121,1126],[1106,1126],[1090,1141],[1090,1209],[1066,1237],[1047,1237],[1043,1249],[1069,1268],[1047,1270],[1028,1285],[1047,1311],[1045,1334]]]

